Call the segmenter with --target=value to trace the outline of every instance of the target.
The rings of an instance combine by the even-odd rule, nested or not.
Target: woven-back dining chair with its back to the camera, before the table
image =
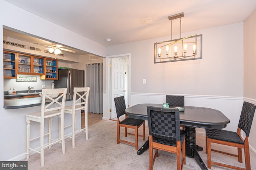
[[[181,170],[183,165],[186,164],[186,148],[185,131],[180,130],[179,109],[147,106],[147,111],[149,129],[149,169],[153,170],[154,162],[156,157],[158,157],[158,149],[160,149],[176,153],[177,170]],[[153,149],[156,150],[154,156]]]

